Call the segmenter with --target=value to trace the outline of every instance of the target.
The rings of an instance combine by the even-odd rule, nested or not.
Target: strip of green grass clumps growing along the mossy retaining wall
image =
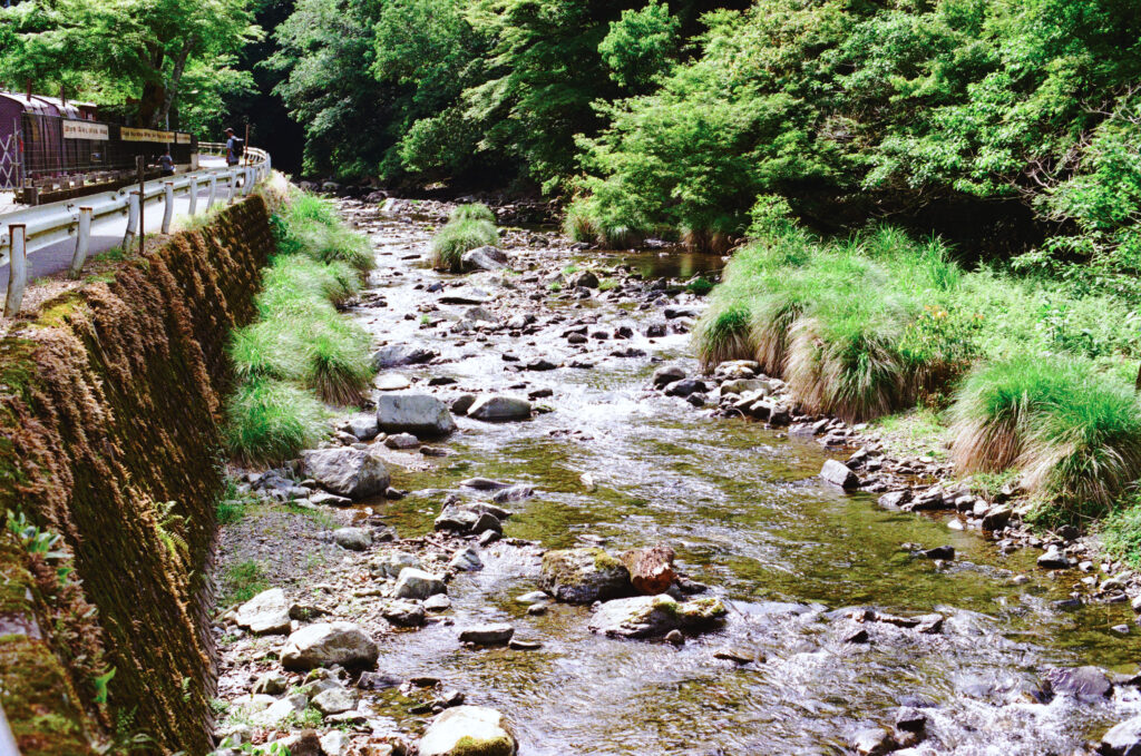
[[[258,319],[229,356],[240,384],[227,406],[230,452],[278,462],[327,431],[326,404],[359,404],[372,377],[367,334],[337,307],[372,268],[369,241],[326,201],[291,193],[273,217],[277,254],[262,275]]]

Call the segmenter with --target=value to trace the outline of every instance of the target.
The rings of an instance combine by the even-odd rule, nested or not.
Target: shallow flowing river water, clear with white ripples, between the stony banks
[[[945,518],[889,512],[872,497],[830,489],[816,477],[826,453],[814,440],[714,418],[649,392],[656,365],[648,358],[605,357],[600,349],[593,369],[508,372],[518,363],[505,361],[504,352],[523,363],[567,359],[572,352],[558,336],[574,318],[638,330],[661,319],[656,308],[597,300],[576,308],[575,300],[547,298],[534,303],[540,324],[560,312],[566,322],[516,340],[502,334],[459,343],[464,340],[445,336],[445,328],[421,327],[422,306],[437,296],[424,284],[453,278],[406,259],[426,250],[426,226],[380,217],[363,227],[378,245],[372,285],[388,307],[362,309],[361,322],[379,340],[427,346],[447,360],[397,372],[420,381],[453,377],[463,390],[553,391],[540,400],[552,412],[528,422],[458,418],[460,432],[446,444],[451,456],[397,472],[394,485],[412,495],[374,503],[386,520],[400,535],[419,535],[431,528],[443,493],[466,478],[526,483],[537,495],[512,505],[508,536],[544,547],[582,545],[588,536],[612,551],[663,542],[694,579],[733,607],[725,629],[681,648],[600,637],[586,631],[589,608],[527,615],[516,598],[534,591],[537,560],[492,546],[482,554],[484,570],[450,586],[455,626],[386,639],[382,672],[434,674],[468,702],[502,710],[520,753],[536,756],[850,753],[855,731],[890,725],[900,705],[922,706],[929,716],[928,750],[912,753],[1068,755],[1084,753],[1085,741],[1141,707],[1124,686],[1101,702],[1063,696],[1041,702],[1049,698],[1042,675],[1051,667],[1133,673],[1139,634],[1127,605],[1053,609],[1081,576],[1036,569],[1037,552],[1004,556],[980,536],[947,528]],[[567,252],[544,254],[558,260],[556,268],[570,262]],[[655,252],[602,265],[615,261],[647,277],[719,265]],[[524,291],[509,292],[512,301],[541,291],[519,286]],[[440,306],[435,314],[464,309]],[[696,367],[687,335],[654,343],[637,336],[621,346]],[[905,543],[950,544],[957,556],[940,567],[912,558]],[[1018,574],[1029,583],[1015,585]],[[939,611],[947,620],[937,635],[869,623],[871,643],[845,643],[852,620],[830,612],[852,605]],[[462,648],[456,627],[485,620],[508,620],[517,636],[543,647]],[[1123,623],[1134,631],[1125,637],[1110,631]],[[738,666],[714,658],[723,647],[767,660]]]

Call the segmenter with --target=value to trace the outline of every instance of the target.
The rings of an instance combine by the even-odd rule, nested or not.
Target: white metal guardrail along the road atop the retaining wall
[[[200,151],[204,147],[212,152],[219,146],[225,152],[224,145],[199,143]],[[216,202],[228,204],[236,196],[249,194],[256,184],[269,176],[269,153],[251,147],[237,165],[207,168],[153,179],[144,184],[141,194],[137,186],[124,187],[6,213],[0,217],[0,267],[10,266],[5,316],[10,317],[19,311],[27,283],[26,258],[32,252],[74,238],[75,251],[70,273],[72,277],[79,277],[87,259],[94,225],[126,216],[123,246],[127,247],[139,230],[140,208],[145,216],[149,205],[162,205],[162,233],[168,234],[173,220],[176,196],[189,195],[189,214],[193,216],[199,209],[202,189],[208,189],[204,209],[209,210]]]

